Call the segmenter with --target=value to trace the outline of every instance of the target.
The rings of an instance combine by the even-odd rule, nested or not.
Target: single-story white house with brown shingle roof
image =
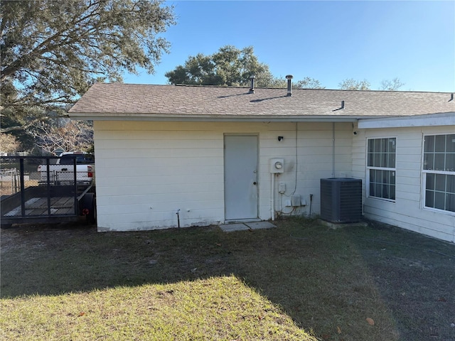
[[[368,219],[455,242],[450,93],[95,83],[69,114],[100,232],[318,215],[320,179],[353,177]]]

